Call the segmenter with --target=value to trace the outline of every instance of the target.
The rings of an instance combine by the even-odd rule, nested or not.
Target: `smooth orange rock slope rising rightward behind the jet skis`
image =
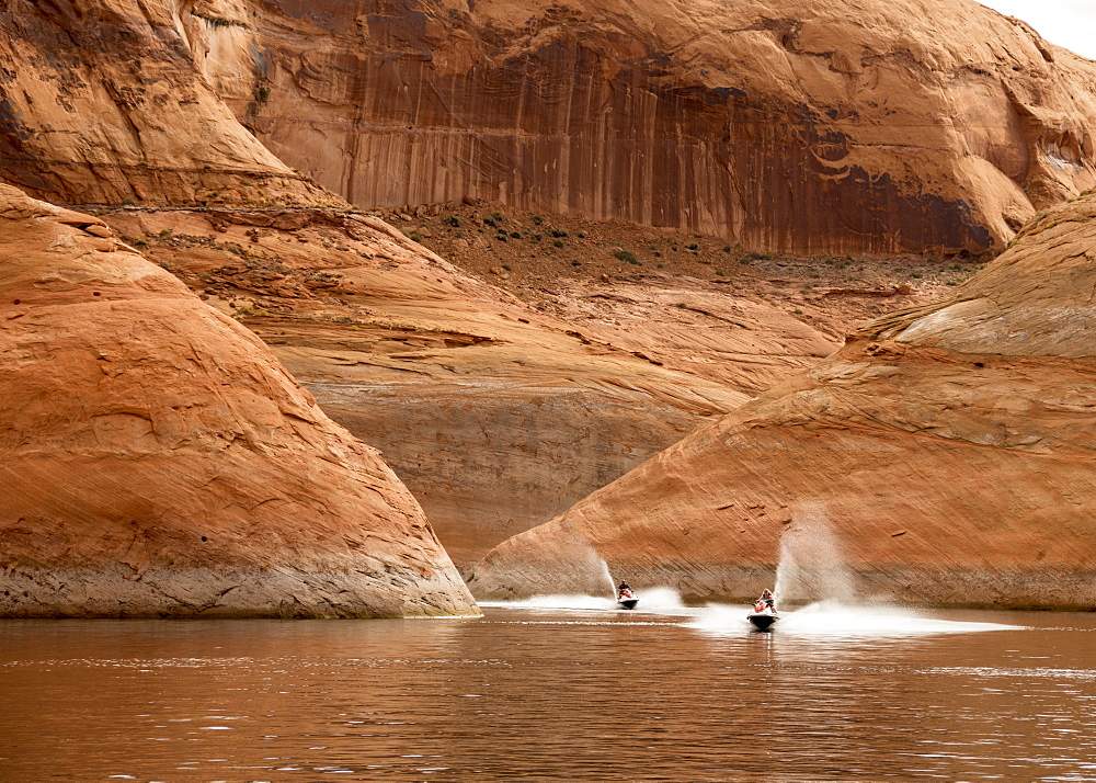
[[[1096,603],[1096,197],[1052,209],[954,296],[854,333],[808,374],[496,547],[482,597],[598,583],[746,598]],[[842,554],[843,551],[843,554]],[[582,559],[584,558],[584,559]],[[602,579],[604,581],[604,579]],[[846,586],[849,587],[849,586]]]

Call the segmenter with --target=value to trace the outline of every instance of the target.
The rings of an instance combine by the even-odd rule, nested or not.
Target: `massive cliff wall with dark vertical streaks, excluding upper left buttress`
[[[201,68],[364,206],[471,196],[772,250],[978,252],[1096,177],[1093,64],[972,0],[254,11],[205,31]]]

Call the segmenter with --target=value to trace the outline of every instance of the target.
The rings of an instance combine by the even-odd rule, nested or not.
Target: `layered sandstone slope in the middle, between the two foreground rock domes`
[[[597,298],[540,310],[367,215],[103,217],[379,447],[458,565],[836,348],[745,283],[600,284]],[[594,311],[580,321],[581,306]]]

